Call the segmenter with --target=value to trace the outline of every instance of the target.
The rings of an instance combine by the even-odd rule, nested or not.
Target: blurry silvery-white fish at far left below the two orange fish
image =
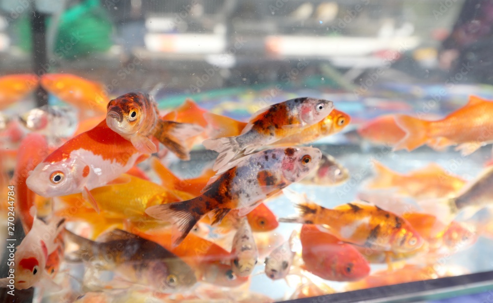
[[[73,107],[44,105],[19,117],[28,130],[53,138],[69,138],[77,128],[77,112]]]

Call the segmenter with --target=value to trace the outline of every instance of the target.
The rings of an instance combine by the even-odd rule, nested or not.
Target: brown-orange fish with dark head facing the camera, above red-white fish
[[[128,93],[109,101],[106,124],[142,153],[157,152],[149,138],[152,135],[182,160],[190,159],[190,151],[183,141],[203,131],[196,124],[161,119],[156,101],[143,93]]]

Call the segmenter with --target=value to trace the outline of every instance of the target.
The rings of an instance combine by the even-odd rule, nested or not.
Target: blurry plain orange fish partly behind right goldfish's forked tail
[[[394,146],[406,132],[395,123],[395,115],[377,117],[358,128],[358,134],[366,140],[376,144]]]

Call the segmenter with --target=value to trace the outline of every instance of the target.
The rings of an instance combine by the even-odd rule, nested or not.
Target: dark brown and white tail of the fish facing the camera
[[[185,140],[203,131],[200,125],[159,119],[153,135],[178,158],[190,160],[190,150],[185,146]]]

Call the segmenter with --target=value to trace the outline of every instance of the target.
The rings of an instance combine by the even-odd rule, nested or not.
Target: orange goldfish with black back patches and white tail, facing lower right
[[[329,209],[308,202],[306,196],[288,195],[297,200],[299,215],[280,218],[280,222],[325,224],[343,240],[376,250],[409,252],[423,245],[423,238],[409,222],[376,205],[355,201]]]

